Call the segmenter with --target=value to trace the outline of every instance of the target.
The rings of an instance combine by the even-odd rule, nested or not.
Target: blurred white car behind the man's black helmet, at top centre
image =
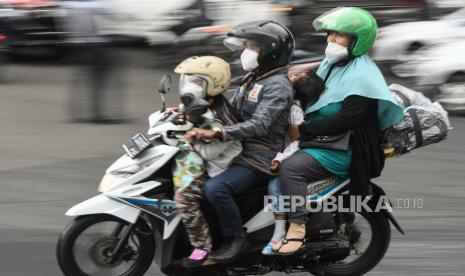
[[[124,22],[108,22],[105,33],[142,37],[149,45],[173,43],[198,45],[224,35],[244,21],[273,19],[289,22],[278,4],[251,0],[113,0],[113,9],[124,14]],[[222,39],[221,39],[222,41]]]

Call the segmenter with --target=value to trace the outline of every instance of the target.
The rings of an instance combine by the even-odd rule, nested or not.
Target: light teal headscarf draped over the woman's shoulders
[[[331,63],[325,58],[318,68],[317,75],[324,79],[330,67]],[[314,105],[305,110],[305,114],[331,103],[342,102],[351,95],[378,100],[381,129],[392,126],[404,116],[402,107],[394,100],[383,75],[367,54],[355,58],[346,66],[335,66],[326,81],[326,90]]]

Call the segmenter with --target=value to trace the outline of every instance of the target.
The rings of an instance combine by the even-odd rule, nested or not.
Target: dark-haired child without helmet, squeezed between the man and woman
[[[289,72],[295,94],[294,103],[291,107],[291,116],[289,118],[288,135],[290,143],[283,152],[279,152],[271,163],[271,170],[279,171],[281,162],[294,152],[299,150],[299,137],[295,133],[297,128],[304,120],[304,110],[307,106],[316,102],[324,90],[323,80],[316,75],[316,67],[310,68],[309,72]],[[268,184],[268,194],[275,199],[273,204],[273,213],[275,216],[275,228],[271,240],[263,248],[263,255],[273,254],[273,245],[277,244],[286,235],[286,214],[282,212],[279,204],[279,197],[282,196],[281,183],[279,177],[274,177]]]

